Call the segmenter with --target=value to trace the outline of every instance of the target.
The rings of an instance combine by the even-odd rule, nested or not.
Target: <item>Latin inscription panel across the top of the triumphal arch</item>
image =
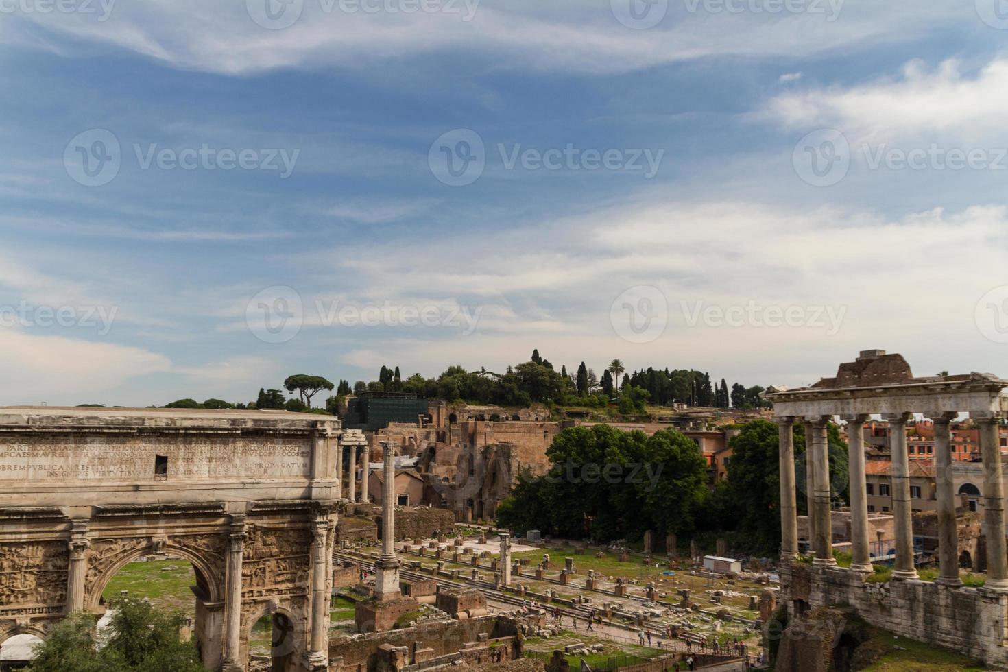
[[[0,482],[155,481],[155,454],[168,458],[168,480],[307,478],[310,452],[299,437],[182,436],[152,445],[137,436],[0,436]]]

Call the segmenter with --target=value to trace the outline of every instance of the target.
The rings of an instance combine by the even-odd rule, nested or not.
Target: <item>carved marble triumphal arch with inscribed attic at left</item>
[[[101,612],[126,563],[193,563],[204,664],[326,670],[340,421],[284,411],[0,408],[0,642]],[[279,627],[277,624],[282,624]]]

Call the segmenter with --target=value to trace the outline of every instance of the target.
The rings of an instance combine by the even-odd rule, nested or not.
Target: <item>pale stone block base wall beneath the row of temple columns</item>
[[[807,607],[853,607],[869,624],[918,642],[1008,665],[1008,595],[928,581],[866,583],[842,567],[780,568],[781,602],[793,619]]]

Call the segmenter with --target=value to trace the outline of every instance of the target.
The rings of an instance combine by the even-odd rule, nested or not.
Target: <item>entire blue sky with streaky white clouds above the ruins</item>
[[[1008,375],[996,1],[59,7],[0,2],[0,403]]]

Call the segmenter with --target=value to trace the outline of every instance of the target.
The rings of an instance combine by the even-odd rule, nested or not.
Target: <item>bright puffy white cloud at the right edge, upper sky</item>
[[[850,88],[812,88],[774,98],[764,115],[787,126],[834,127],[851,141],[920,135],[977,139],[1003,133],[1008,59],[973,74],[957,60],[928,70],[918,60],[887,78]]]

